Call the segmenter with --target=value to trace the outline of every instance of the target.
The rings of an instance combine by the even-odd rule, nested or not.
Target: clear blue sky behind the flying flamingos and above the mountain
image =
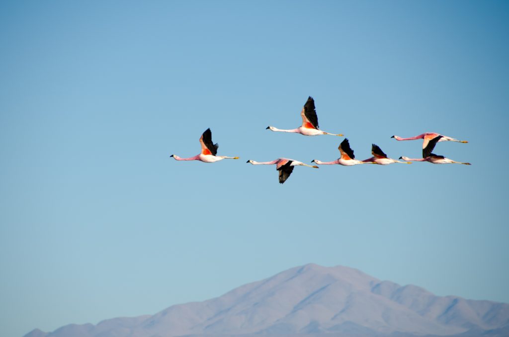
[[[502,1],[0,4],[2,335],[201,301],[297,265],[509,302]],[[343,138],[295,128],[307,96]],[[212,129],[220,155],[177,162]]]

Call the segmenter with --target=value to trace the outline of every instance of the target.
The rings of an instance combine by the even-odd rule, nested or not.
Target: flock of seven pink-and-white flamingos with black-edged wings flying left
[[[318,126],[318,117],[316,113],[315,100],[313,97],[309,96],[306,103],[302,107],[300,116],[302,118],[302,125],[296,129],[278,129],[273,126],[268,126],[266,129],[271,131],[279,131],[279,132],[292,132],[292,133],[300,133],[305,136],[316,136],[322,134],[329,134],[334,136],[343,136],[341,133],[329,133],[319,129]],[[353,166],[358,164],[378,164],[378,165],[388,165],[392,163],[402,163],[402,164],[411,164],[413,161],[428,161],[432,164],[465,164],[470,165],[468,162],[459,162],[449,158],[446,158],[441,155],[436,155],[433,153],[435,146],[439,142],[451,141],[451,142],[459,142],[459,143],[468,143],[467,141],[459,141],[458,139],[444,136],[439,133],[433,132],[425,132],[419,134],[414,137],[403,138],[397,135],[391,136],[391,138],[396,139],[397,141],[412,141],[414,139],[423,139],[422,143],[422,158],[408,158],[405,156],[401,156],[399,159],[403,159],[405,161],[400,161],[396,159],[389,158],[380,147],[376,144],[372,144],[371,153],[372,157],[357,160],[355,159],[354,151],[350,148],[350,143],[348,138],[345,138],[343,142],[341,142],[340,146],[337,148],[340,151],[340,158],[337,158],[333,161],[320,161],[318,159],[312,160],[312,163],[317,165],[343,165],[343,166]],[[181,158],[175,154],[172,154],[170,157],[173,157],[175,160],[199,160],[207,163],[220,161],[223,159],[239,159],[239,157],[228,157],[228,156],[218,156],[217,149],[218,144],[214,144],[212,142],[212,132],[210,128],[205,130],[205,132],[200,137],[200,145],[202,146],[202,151],[200,154],[197,154],[193,157],[189,158]],[[279,183],[284,183],[292,174],[295,166],[308,166],[313,168],[319,168],[316,165],[308,165],[304,164],[301,161],[288,159],[288,158],[277,158],[272,161],[254,161],[248,160],[247,163],[251,163],[253,165],[276,165],[276,171],[278,171],[278,179]]]

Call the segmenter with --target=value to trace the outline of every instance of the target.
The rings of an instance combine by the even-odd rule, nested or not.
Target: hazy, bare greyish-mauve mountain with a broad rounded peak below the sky
[[[435,296],[348,267],[308,264],[153,316],[24,337],[509,336],[509,304]]]

